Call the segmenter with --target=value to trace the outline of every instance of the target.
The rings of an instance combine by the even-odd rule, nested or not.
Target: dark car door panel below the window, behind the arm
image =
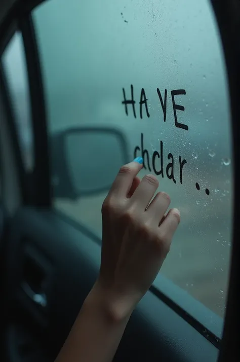
[[[54,212],[17,212],[6,254],[9,362],[54,360],[97,277],[100,251],[81,227]],[[115,360],[202,362],[216,361],[217,355],[213,344],[149,291]]]

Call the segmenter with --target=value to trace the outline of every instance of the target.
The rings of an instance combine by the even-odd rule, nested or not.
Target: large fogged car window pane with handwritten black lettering
[[[141,175],[157,174],[159,190],[181,212],[161,272],[223,316],[232,156],[225,63],[209,2],[52,0],[34,21],[51,134],[86,124],[122,130],[129,159],[144,156]],[[105,195],[56,198],[55,206],[101,235]]]

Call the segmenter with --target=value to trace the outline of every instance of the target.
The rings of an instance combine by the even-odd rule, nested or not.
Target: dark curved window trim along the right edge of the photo
[[[228,360],[229,355],[234,360],[240,359],[238,346],[238,334],[240,325],[240,291],[238,287],[240,275],[240,189],[238,187],[237,162],[240,159],[239,115],[240,115],[240,3],[234,0],[211,0],[216,15],[220,37],[225,56],[228,91],[231,110],[231,129],[233,144],[233,229],[232,248],[230,258],[230,274],[228,282],[228,295],[226,303],[226,314],[224,318],[223,338],[218,362]],[[238,283],[237,283],[238,282]]]

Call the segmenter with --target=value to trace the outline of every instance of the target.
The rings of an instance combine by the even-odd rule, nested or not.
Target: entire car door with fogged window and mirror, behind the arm
[[[229,93],[207,1],[16,2],[2,29],[3,358],[54,360],[98,274],[101,203],[140,155],[182,222],[114,360],[237,360],[232,33]]]

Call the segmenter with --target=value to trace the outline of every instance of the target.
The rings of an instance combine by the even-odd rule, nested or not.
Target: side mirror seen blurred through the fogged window
[[[55,197],[76,199],[110,188],[121,165],[128,162],[127,141],[114,128],[77,127],[50,139]]]

